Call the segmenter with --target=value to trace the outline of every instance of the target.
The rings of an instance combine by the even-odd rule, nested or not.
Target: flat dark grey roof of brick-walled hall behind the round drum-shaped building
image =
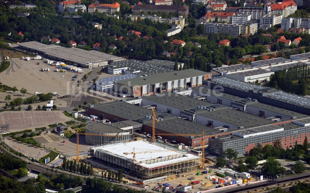
[[[125,103],[121,101],[113,101],[109,103],[91,105],[92,109],[98,111],[103,111],[105,113],[122,117],[127,120],[134,120],[143,118],[145,116],[152,116],[152,110],[139,107],[130,103]],[[156,112],[156,115],[161,113]]]

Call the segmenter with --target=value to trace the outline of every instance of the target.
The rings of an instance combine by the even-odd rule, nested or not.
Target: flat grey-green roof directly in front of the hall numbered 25
[[[212,103],[208,103],[206,101],[201,101],[198,99],[194,99],[191,97],[183,96],[181,94],[175,93],[167,93],[165,95],[160,96],[149,96],[144,97],[142,100],[149,100],[155,103],[160,103],[168,107],[173,107],[181,110],[197,108],[199,106],[209,106]]]

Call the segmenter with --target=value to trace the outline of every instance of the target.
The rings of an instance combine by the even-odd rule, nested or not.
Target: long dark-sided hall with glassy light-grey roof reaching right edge
[[[310,99],[296,94],[285,93],[282,90],[253,85],[227,77],[203,81],[203,85],[209,86],[210,89],[215,86],[220,87],[227,94],[256,99],[260,103],[310,115]]]

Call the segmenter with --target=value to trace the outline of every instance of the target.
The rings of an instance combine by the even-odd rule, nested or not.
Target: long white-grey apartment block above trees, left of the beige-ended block
[[[229,36],[237,37],[241,33],[241,25],[223,23],[203,23],[205,33],[228,33]]]

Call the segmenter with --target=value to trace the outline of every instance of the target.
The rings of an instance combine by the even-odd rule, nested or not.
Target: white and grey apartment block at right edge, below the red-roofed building
[[[288,31],[290,28],[304,27],[310,29],[310,18],[283,18],[281,21],[281,28]]]

